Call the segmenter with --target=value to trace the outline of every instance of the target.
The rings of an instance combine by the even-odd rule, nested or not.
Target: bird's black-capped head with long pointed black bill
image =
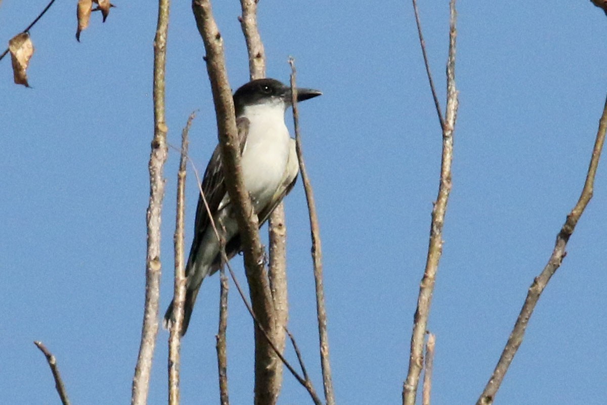
[[[319,90],[297,88],[297,101],[308,100],[321,94]],[[282,105],[286,109],[291,105],[291,87],[276,79],[265,78],[251,80],[234,93],[237,117],[243,113],[246,106],[266,103]]]

